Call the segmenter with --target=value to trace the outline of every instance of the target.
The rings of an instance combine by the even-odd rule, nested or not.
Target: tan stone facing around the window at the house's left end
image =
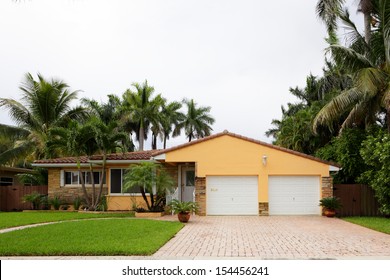
[[[77,197],[83,197],[83,190],[80,187],[61,187],[60,186],[60,168],[50,168],[48,170],[48,195],[49,198],[54,196],[60,197],[66,203],[73,203],[73,200]],[[91,195],[91,187],[86,187],[87,192]],[[99,190],[99,186],[96,186],[96,191]],[[103,187],[103,195],[107,194],[107,187]]]

